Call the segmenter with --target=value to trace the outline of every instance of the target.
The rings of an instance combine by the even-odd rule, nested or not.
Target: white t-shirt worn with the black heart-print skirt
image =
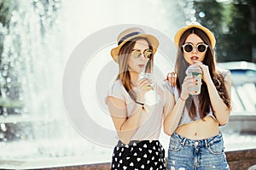
[[[157,140],[160,137],[160,130],[163,122],[164,89],[154,84],[154,89],[159,96],[158,102],[154,105],[144,105],[139,120],[139,127],[131,140]],[[136,90],[136,89],[135,89]],[[126,104],[126,116],[131,116],[134,105],[137,105],[125,90],[123,84],[117,80],[108,89],[108,96],[121,99]],[[107,96],[107,98],[108,98]]]

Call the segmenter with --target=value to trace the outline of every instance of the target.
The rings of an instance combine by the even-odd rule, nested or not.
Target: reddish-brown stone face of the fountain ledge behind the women
[[[255,170],[256,168],[256,149],[252,150],[234,150],[226,152],[227,161],[230,165],[230,170]],[[251,168],[250,168],[251,167]],[[55,170],[109,170],[110,163],[97,163],[90,165],[79,165],[70,167],[54,167],[43,169]]]

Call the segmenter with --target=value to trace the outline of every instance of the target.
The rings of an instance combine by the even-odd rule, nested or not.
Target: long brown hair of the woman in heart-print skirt
[[[146,40],[148,42],[149,49],[153,49],[151,43],[148,41],[147,38],[145,38],[145,37],[135,37],[135,38],[131,39],[130,41],[125,42],[125,44],[120,48],[119,58],[118,58],[119,75],[117,77],[117,80],[119,79],[122,82],[122,84],[125,87],[125,90],[128,92],[128,94],[130,94],[131,99],[133,99],[135,101],[137,99],[137,94],[132,89],[132,85],[131,85],[131,75],[130,75],[130,72],[128,70],[128,57],[129,57],[129,54],[131,54],[131,51],[134,48],[135,43],[139,39]],[[153,65],[154,65],[154,54],[152,54],[152,57],[148,60],[145,72],[153,71]]]

